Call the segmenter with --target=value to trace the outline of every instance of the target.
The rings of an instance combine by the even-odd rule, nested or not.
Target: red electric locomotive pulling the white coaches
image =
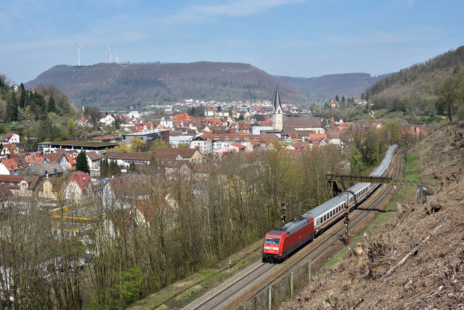
[[[266,234],[263,245],[263,263],[277,263],[300,245],[314,238],[312,218],[298,217]]]

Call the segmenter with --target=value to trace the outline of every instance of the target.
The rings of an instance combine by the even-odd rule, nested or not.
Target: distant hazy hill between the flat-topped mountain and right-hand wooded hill
[[[303,90],[307,97],[324,101],[334,99],[335,95],[340,98],[361,96],[364,90],[374,85],[378,79],[389,76],[391,73],[380,76],[371,76],[369,73],[343,73],[328,74],[313,78],[292,78],[290,76],[275,75],[277,79],[291,86]]]

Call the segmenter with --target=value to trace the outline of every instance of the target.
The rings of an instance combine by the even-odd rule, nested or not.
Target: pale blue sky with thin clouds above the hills
[[[398,71],[464,44],[464,1],[1,1],[0,73],[59,64],[231,61],[270,74]]]

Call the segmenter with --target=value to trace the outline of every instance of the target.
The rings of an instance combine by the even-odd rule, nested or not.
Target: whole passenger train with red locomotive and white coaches
[[[386,176],[392,167],[398,145],[388,148],[385,158],[369,176]],[[379,187],[378,183],[357,183],[325,203],[266,233],[263,244],[263,263],[278,263],[299,246],[314,239],[330,225],[344,217],[345,208],[354,207],[366,200]]]

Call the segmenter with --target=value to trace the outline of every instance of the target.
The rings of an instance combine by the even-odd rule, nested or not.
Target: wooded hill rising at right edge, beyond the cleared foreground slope
[[[444,86],[442,82],[447,76],[461,72],[463,63],[464,46],[460,46],[380,79],[367,87],[365,93],[375,104],[375,109],[404,111],[409,115],[443,115],[447,113],[448,99],[442,95],[445,89],[440,91],[440,86]],[[462,90],[457,80],[451,82],[456,84],[456,89],[460,87]],[[453,113],[457,112],[458,103],[464,100],[464,93],[456,95]]]

